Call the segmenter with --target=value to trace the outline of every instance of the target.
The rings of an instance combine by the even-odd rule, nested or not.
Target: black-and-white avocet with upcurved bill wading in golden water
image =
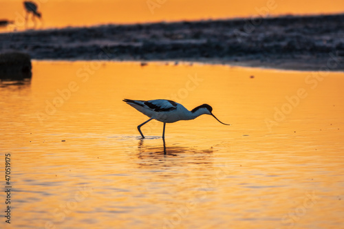
[[[138,131],[140,132],[142,138],[144,138],[144,135],[142,134],[140,128],[152,119],[164,122],[162,138],[165,138],[166,123],[177,122],[180,120],[192,120],[197,118],[198,116],[202,116],[203,114],[211,115],[217,121],[221,122],[213,115],[213,113],[211,113],[211,111],[213,111],[213,108],[207,104],[200,105],[189,111],[183,105],[179,104],[178,102],[173,102],[171,100],[144,101],[124,99],[123,102],[127,102],[127,104],[131,105],[131,107],[137,109],[138,111],[149,117],[149,120],[138,125]],[[221,123],[225,125],[230,125],[224,122]]]

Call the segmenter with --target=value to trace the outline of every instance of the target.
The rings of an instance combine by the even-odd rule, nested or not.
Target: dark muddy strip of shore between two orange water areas
[[[344,14],[99,25],[0,34],[0,52],[37,60],[195,61],[344,70]]]

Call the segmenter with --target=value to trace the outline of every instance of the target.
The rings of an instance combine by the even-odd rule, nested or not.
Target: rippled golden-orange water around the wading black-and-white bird
[[[1,228],[341,228],[344,74],[34,62],[1,85]],[[211,116],[151,121],[123,98]],[[6,210],[5,193],[0,195]],[[1,213],[3,215],[3,213]]]

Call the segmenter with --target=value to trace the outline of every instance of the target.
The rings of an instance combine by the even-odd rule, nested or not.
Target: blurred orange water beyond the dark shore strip
[[[107,23],[147,23],[269,17],[284,14],[333,14],[344,12],[342,0],[36,0],[42,20],[25,25],[23,1],[0,0],[0,19],[14,21],[3,30],[61,28]]]

